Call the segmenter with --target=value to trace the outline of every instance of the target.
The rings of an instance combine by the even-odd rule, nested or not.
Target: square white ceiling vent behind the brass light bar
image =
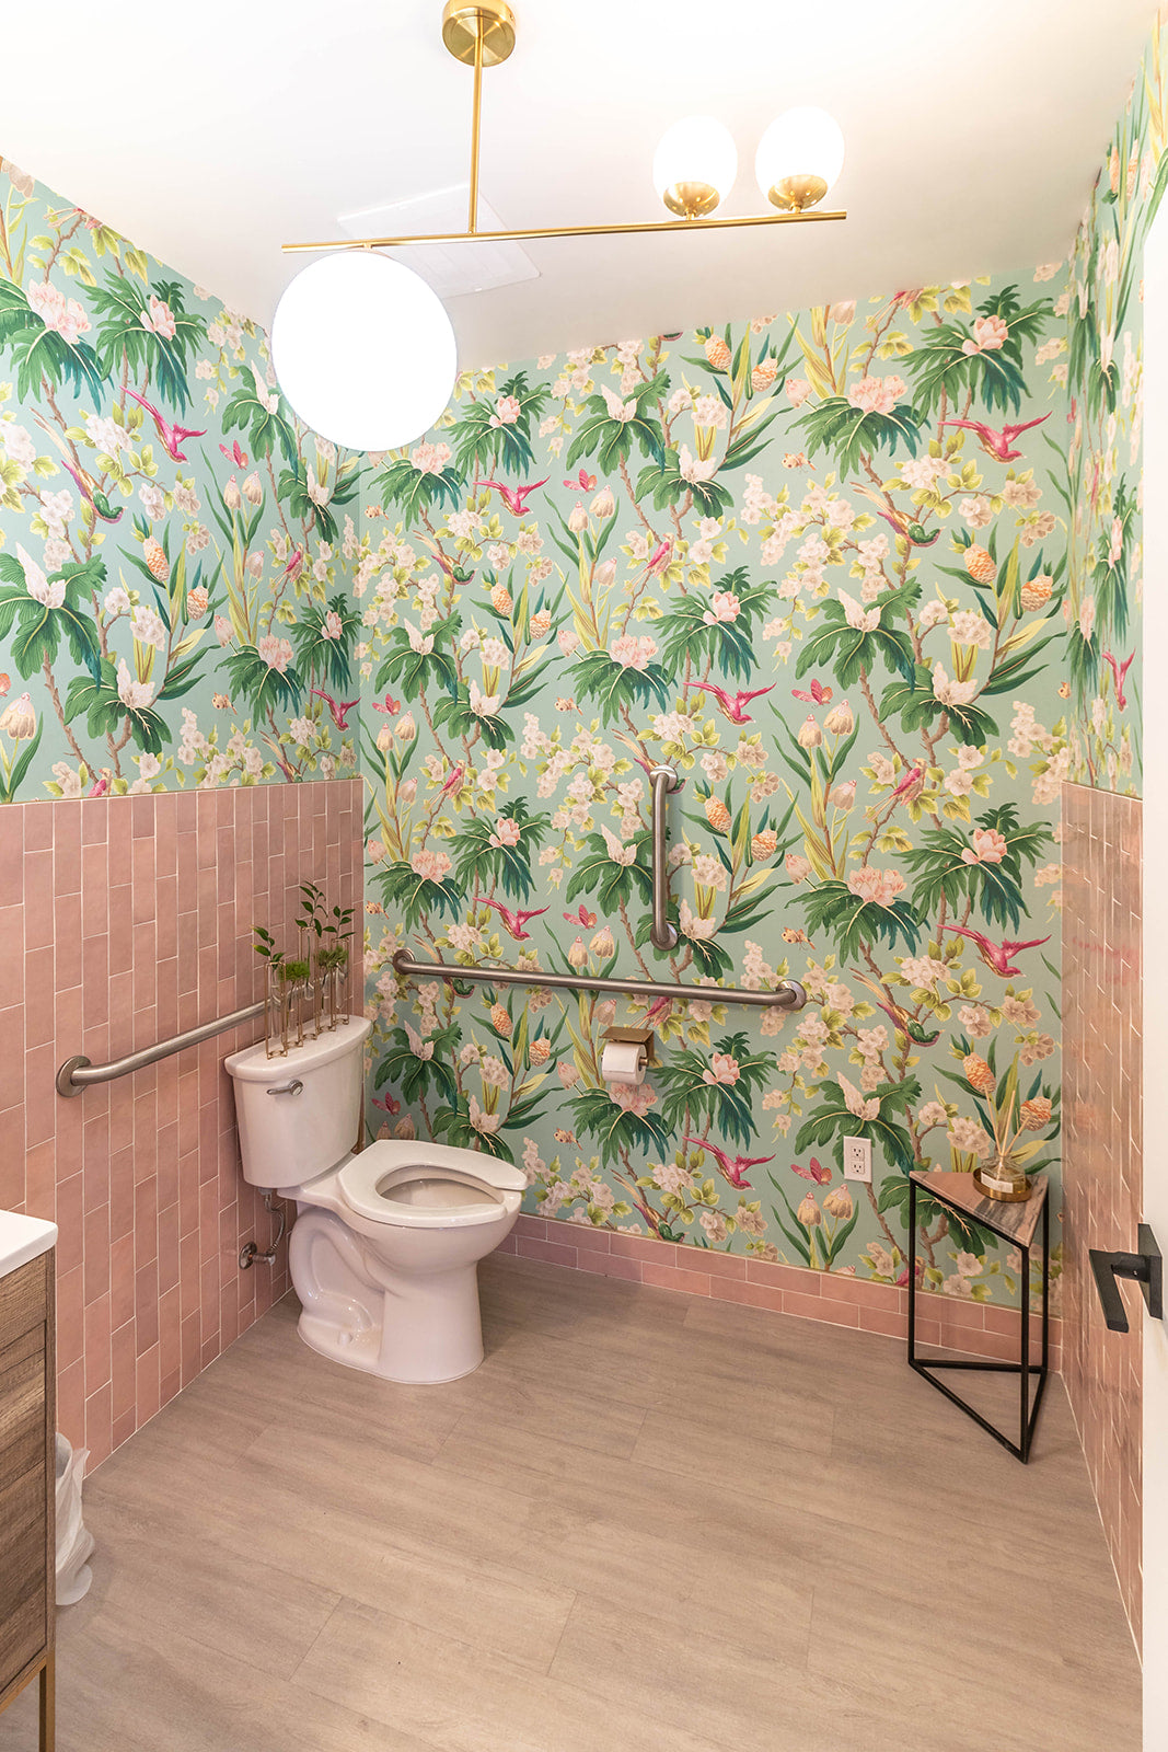
[[[362,207],[355,214],[341,214],[336,221],[348,237],[413,237],[420,231],[464,231],[469,186],[434,189],[408,201],[385,207]],[[503,231],[504,224],[494,207],[478,196],[478,228]],[[539,268],[518,244],[410,244],[394,249],[394,259],[420,273],[440,298],[464,298],[469,293],[490,293],[499,286],[518,286],[520,280],[538,280]]]

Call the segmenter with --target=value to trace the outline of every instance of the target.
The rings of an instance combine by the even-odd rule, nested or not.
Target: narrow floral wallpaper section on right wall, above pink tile
[[[1070,391],[1065,506],[1066,776],[1140,788],[1143,238],[1168,179],[1164,23],[1157,19],[1070,256],[1058,310]]]

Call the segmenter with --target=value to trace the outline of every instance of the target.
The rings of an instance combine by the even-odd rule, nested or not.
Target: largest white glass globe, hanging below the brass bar
[[[301,420],[350,450],[396,450],[454,392],[457,349],[438,294],[389,256],[338,251],[284,289],[271,363]]]

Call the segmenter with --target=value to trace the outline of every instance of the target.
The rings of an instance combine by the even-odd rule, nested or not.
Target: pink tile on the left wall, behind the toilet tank
[[[60,1225],[58,1424],[98,1465],[287,1289],[222,1060],[263,1021],[63,1100],[95,1063],[256,1002],[252,922],[361,909],[361,781],[0,808],[0,1207]],[[359,918],[357,918],[359,932]]]

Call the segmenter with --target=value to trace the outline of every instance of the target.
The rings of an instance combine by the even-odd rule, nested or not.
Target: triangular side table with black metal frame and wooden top
[[[982,1228],[993,1230],[1002,1240],[1009,1240],[1014,1247],[1021,1251],[1023,1272],[1021,1272],[1021,1307],[1019,1307],[1019,1360],[1017,1363],[982,1363],[972,1358],[933,1358],[916,1354],[916,1198],[918,1190],[926,1191],[930,1198],[935,1198],[940,1205],[947,1205],[949,1211],[960,1216],[972,1218],[981,1223]],[[1038,1230],[1038,1221],[1042,1221],[1042,1361],[1037,1367],[1030,1363],[1030,1256],[1035,1247],[1035,1235]],[[947,1174],[942,1169],[932,1169],[928,1174],[919,1170],[909,1176],[909,1368],[914,1368],[918,1375],[944,1393],[947,1400],[960,1405],[961,1410],[981,1424],[1002,1447],[1009,1447],[1016,1459],[1023,1465],[1030,1459],[1030,1444],[1033,1440],[1035,1424],[1038,1421],[1038,1407],[1042,1405],[1042,1393],[1047,1384],[1051,1356],[1051,1212],[1047,1205],[1047,1177],[1045,1174],[1037,1176],[1035,1190],[1024,1204],[1003,1204],[998,1198],[986,1198],[982,1191],[974,1184],[972,1174]],[[984,1374],[998,1375],[1017,1375],[1019,1377],[1019,1423],[1017,1423],[1017,1442],[1002,1430],[995,1428],[979,1410],[967,1403],[960,1393],[946,1386],[944,1381],[937,1381],[932,1374],[935,1368],[974,1368]],[[1030,1402],[1030,1381],[1037,1379],[1037,1391],[1033,1405]]]

